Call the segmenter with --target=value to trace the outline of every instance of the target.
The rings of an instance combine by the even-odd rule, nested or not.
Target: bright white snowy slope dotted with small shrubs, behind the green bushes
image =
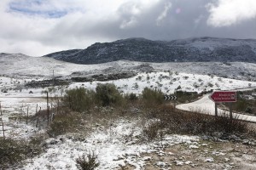
[[[95,89],[97,83],[107,82],[79,82],[73,83],[70,88],[84,86],[84,88]],[[201,93],[217,89],[256,87],[256,82],[179,72],[144,72],[138,73],[136,77],[108,81],[108,83],[115,84],[125,94],[141,94],[144,88],[160,89],[165,94],[173,94],[176,90]]]

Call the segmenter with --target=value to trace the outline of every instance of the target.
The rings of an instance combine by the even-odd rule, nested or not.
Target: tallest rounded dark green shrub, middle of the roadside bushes
[[[123,96],[112,83],[98,84],[96,87],[96,99],[102,106],[122,105]]]

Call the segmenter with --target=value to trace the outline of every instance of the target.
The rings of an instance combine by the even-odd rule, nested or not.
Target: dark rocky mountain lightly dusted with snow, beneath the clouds
[[[44,57],[77,64],[99,64],[116,60],[144,62],[251,62],[256,63],[256,40],[189,38],[170,42],[129,38],[96,42],[85,49],[72,49]]]

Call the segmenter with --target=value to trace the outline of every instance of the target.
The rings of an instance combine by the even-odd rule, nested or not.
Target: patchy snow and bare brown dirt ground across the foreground
[[[165,135],[162,139],[140,142],[140,120],[119,120],[89,137],[76,139],[67,134],[47,139],[45,153],[26,160],[22,170],[77,169],[75,160],[95,153],[101,169],[254,169],[253,145],[227,141],[214,143],[197,136]],[[127,136],[129,138],[127,138]],[[130,168],[129,168],[130,167]]]

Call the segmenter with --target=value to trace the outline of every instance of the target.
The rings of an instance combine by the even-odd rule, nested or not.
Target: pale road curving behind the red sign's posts
[[[209,99],[209,95],[210,94],[207,94],[203,96],[201,99],[196,100],[195,102],[192,102],[192,103],[176,105],[176,108],[182,111],[196,111],[203,114],[214,116],[215,115],[214,102],[211,99]],[[229,115],[230,112],[218,109],[218,115],[220,114]],[[233,113],[233,117],[237,117],[242,121],[256,123],[256,116],[247,116],[247,115]]]

